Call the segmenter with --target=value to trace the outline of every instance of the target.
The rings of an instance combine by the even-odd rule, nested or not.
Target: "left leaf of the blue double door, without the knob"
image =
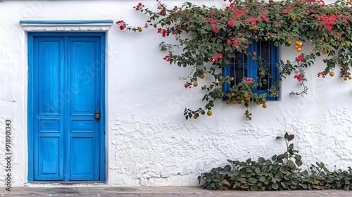
[[[63,179],[63,37],[34,39],[34,179]],[[37,123],[37,124],[35,124]]]

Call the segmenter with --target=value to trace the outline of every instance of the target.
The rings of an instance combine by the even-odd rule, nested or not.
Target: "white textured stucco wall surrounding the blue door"
[[[183,1],[165,1],[181,5]],[[222,1],[194,1],[222,4]],[[27,34],[20,20],[125,20],[143,25],[145,15],[132,9],[139,1],[0,1],[0,174],[5,173],[5,120],[12,121],[12,186],[27,185]],[[155,1],[143,1],[153,7]],[[284,151],[275,136],[296,135],[294,144],[308,166],[324,162],[330,169],[352,163],[351,81],[318,78],[322,59],[308,68],[306,96],[291,77],[282,82],[279,101],[268,108],[217,101],[211,117],[185,120],[185,107],[199,108],[203,92],[184,89],[190,68],[163,61],[156,30],[107,32],[106,155],[107,184],[123,186],[196,185],[196,177],[227,159],[271,158]],[[303,53],[310,50],[308,44]],[[298,56],[293,47],[281,48],[282,59]],[[207,79],[208,78],[208,79]],[[204,81],[210,77],[205,77]],[[0,176],[0,182],[4,182]]]

